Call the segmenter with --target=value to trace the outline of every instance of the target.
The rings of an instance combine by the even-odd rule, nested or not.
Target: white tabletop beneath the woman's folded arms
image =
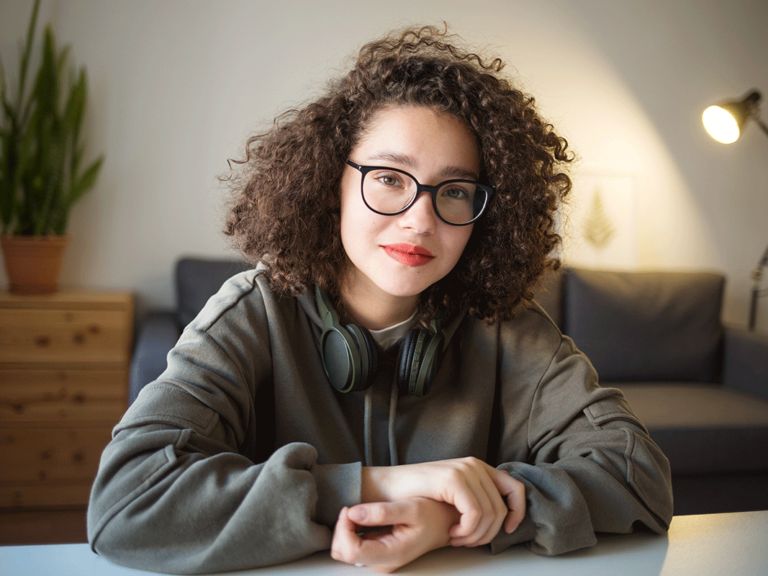
[[[647,533],[601,536],[597,546],[563,556],[536,556],[516,546],[492,556],[487,549],[444,548],[398,574],[764,576],[768,574],[768,511],[678,516],[668,536]],[[0,547],[0,576],[141,576],[93,554],[87,544]],[[333,561],[327,553],[303,560],[230,572],[232,576],[374,574]]]

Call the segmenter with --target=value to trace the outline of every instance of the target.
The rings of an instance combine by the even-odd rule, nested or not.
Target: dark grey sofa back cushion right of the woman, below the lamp
[[[563,328],[603,381],[716,382],[724,286],[707,272],[571,268]]]

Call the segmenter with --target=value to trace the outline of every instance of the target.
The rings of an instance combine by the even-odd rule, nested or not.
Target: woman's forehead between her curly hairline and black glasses
[[[477,138],[469,126],[455,116],[423,106],[377,111],[352,153],[362,163],[389,159],[404,168],[451,165],[476,174],[480,171]]]

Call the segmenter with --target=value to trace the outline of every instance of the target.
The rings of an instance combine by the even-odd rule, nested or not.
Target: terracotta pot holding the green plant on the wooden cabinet
[[[67,244],[69,236],[0,236],[11,292],[56,292]]]

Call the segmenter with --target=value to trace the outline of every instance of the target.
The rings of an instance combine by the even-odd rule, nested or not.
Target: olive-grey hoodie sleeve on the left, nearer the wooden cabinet
[[[329,548],[341,507],[360,501],[359,463],[319,465],[303,443],[273,452],[251,289],[209,302],[115,428],[88,509],[91,547],[110,561],[175,574],[287,562]]]

